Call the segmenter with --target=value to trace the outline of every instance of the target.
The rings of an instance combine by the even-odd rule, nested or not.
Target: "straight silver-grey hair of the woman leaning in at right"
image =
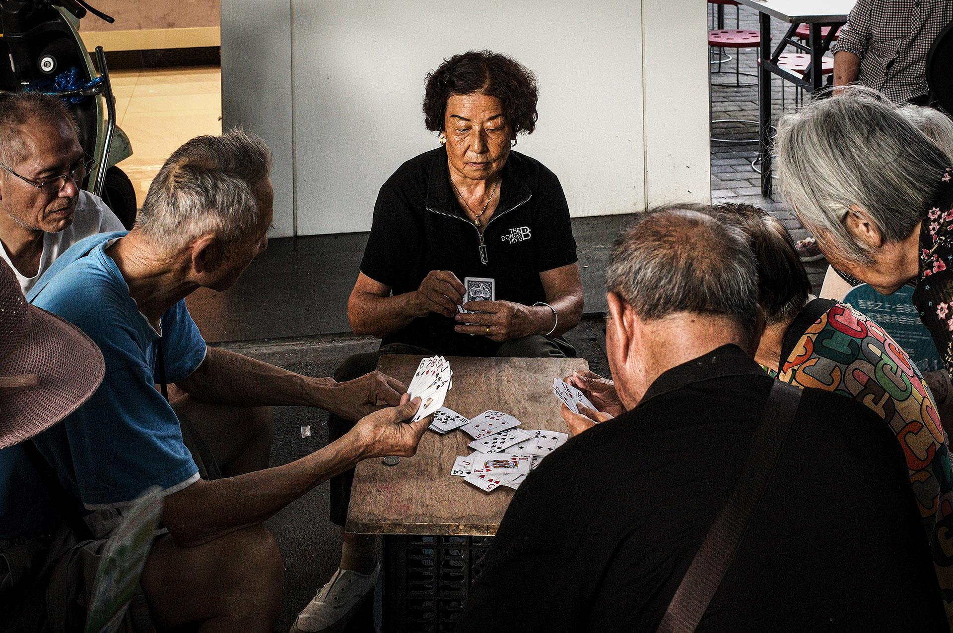
[[[866,211],[885,241],[900,242],[920,226],[950,163],[891,104],[863,89],[787,114],[775,142],[781,193],[801,224],[859,264],[870,264],[875,249],[847,231],[850,208]]]

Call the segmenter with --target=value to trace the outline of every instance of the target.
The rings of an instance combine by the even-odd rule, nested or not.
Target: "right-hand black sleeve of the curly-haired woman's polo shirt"
[[[577,261],[576,240],[573,238],[566,195],[556,174],[541,165],[539,183],[533,197],[537,272],[573,264]]]

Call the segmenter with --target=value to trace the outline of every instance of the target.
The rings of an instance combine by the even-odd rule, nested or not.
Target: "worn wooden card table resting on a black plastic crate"
[[[377,368],[405,385],[421,356],[383,356]],[[553,379],[588,369],[577,358],[448,357],[454,386],[444,406],[468,418],[487,409],[516,416],[519,428],[567,432]],[[456,429],[427,431],[414,457],[396,465],[365,460],[355,469],[346,528],[382,534],[383,630],[452,630],[479,575],[514,490],[483,492],[450,474],[458,455],[474,452]]]

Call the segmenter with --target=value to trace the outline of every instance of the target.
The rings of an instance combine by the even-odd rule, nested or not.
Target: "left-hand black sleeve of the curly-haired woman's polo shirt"
[[[400,276],[408,271],[409,256],[420,250],[421,234],[410,201],[385,184],[377,193],[374,223],[360,271],[375,282],[395,287]]]

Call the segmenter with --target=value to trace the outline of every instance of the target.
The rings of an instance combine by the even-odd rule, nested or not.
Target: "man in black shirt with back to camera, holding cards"
[[[750,357],[744,237],[648,211],[606,277],[615,389],[588,383],[605,421],[519,487],[458,633],[657,630],[740,479],[774,383]],[[900,446],[873,411],[803,390],[698,630],[948,630]]]

